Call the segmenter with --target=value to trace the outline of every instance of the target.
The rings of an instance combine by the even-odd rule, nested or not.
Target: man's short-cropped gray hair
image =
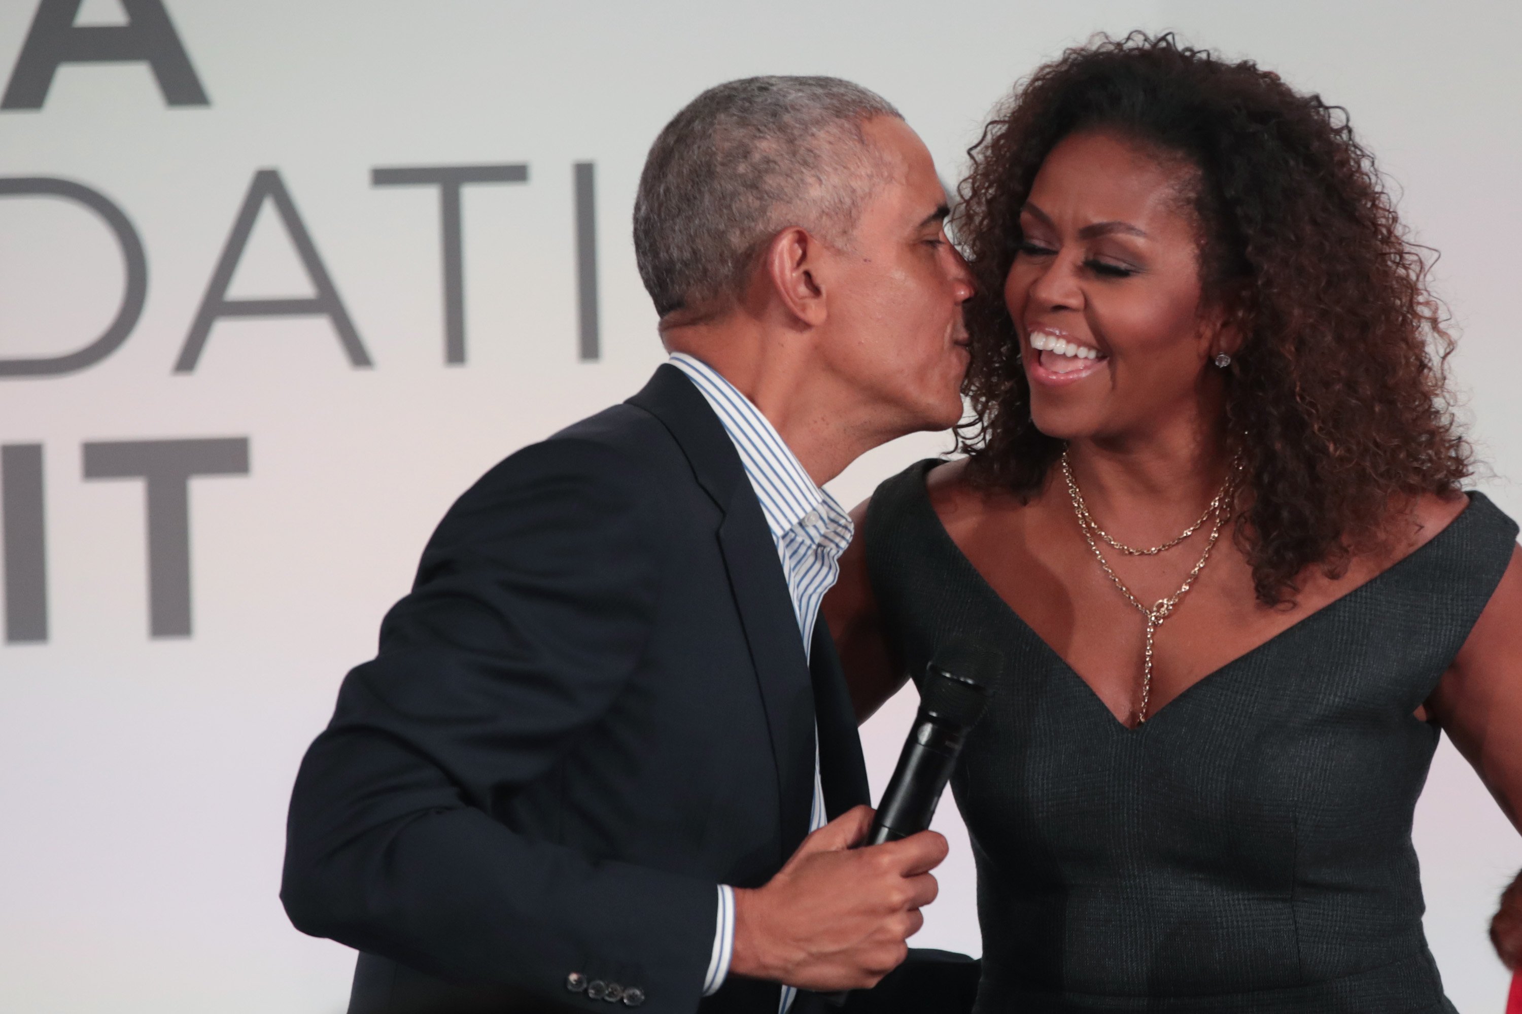
[[[890,172],[861,132],[886,99],[839,78],[744,78],[709,88],[650,146],[635,198],[635,259],[656,312],[744,286],[776,233],[849,248]]]

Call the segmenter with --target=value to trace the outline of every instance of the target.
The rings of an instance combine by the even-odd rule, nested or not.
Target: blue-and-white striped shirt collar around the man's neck
[[[801,527],[811,540],[831,545],[837,554],[843,551],[854,531],[851,515],[814,484],[761,410],[702,359],[677,352],[670,362],[693,381],[734,442],[772,540],[779,544],[787,531]]]

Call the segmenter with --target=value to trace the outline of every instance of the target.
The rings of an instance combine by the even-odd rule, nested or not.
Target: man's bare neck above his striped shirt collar
[[[744,394],[816,486],[883,443],[861,425],[860,396],[820,368],[807,330],[735,314],[667,327],[661,336],[667,350],[702,359]]]

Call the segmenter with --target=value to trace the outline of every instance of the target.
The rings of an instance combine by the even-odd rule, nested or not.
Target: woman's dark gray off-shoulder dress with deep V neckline
[[[977,860],[980,1014],[1452,1011],[1411,816],[1432,693],[1511,559],[1479,493],[1431,542],[1128,729],[941,525],[921,461],[863,537],[910,673],[1005,670],[953,778]]]

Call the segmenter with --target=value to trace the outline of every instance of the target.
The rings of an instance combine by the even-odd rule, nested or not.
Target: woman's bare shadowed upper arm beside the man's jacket
[[[857,534],[840,554],[840,579],[825,595],[822,606],[846,673],[857,722],[866,722],[906,682],[904,667],[884,636],[866,569],[866,540],[861,533],[869,502],[871,499],[864,499],[851,512]]]

